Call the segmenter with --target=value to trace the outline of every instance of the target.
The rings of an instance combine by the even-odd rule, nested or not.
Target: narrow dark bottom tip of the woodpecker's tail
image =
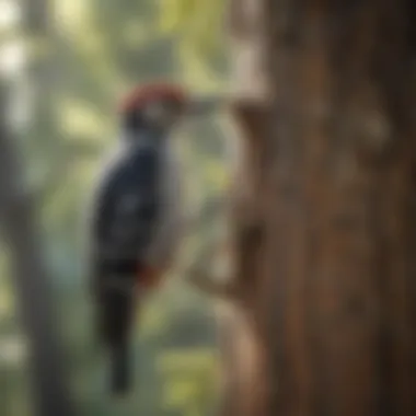
[[[132,384],[129,348],[127,343],[114,346],[109,353],[109,382],[113,394],[122,395],[129,392]]]

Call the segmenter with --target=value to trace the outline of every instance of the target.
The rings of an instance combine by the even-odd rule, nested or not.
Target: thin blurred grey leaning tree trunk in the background
[[[10,252],[13,282],[28,342],[36,416],[70,416],[73,408],[58,342],[47,270],[39,246],[35,206],[5,120],[0,84],[0,226]]]

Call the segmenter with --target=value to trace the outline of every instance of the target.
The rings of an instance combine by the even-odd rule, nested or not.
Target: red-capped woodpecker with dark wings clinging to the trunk
[[[123,101],[119,140],[104,163],[90,219],[90,269],[111,390],[131,386],[129,340],[146,294],[166,275],[184,228],[173,130],[189,112],[183,89],[145,84]]]

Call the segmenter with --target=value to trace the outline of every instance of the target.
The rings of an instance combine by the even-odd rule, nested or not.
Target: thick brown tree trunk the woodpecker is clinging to
[[[229,18],[230,326],[250,348],[231,343],[246,371],[223,414],[416,415],[416,5],[233,0]]]

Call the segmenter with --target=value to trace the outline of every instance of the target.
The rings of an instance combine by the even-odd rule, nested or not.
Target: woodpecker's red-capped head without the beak
[[[183,118],[188,97],[173,84],[149,83],[137,86],[122,102],[124,128],[132,135],[143,130],[166,132]]]

